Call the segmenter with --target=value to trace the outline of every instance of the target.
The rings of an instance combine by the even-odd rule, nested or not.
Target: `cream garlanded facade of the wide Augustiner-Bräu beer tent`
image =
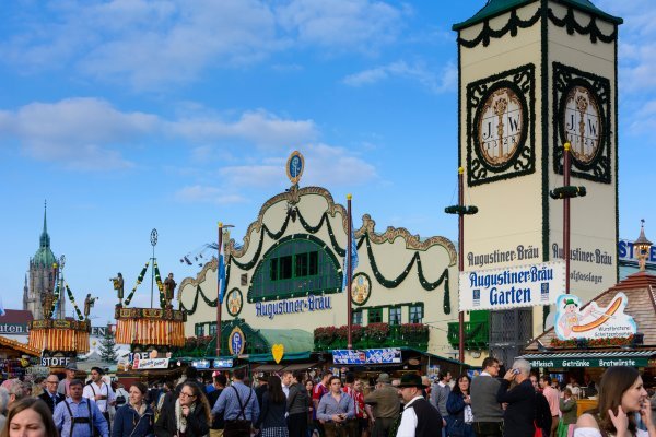
[[[325,196],[317,193],[307,193],[305,196],[301,196],[301,200],[297,204],[298,210],[303,217],[307,221],[311,226],[316,226],[321,215],[325,211],[331,208],[331,199],[326,198]],[[347,233],[343,224],[343,214],[342,211],[345,212],[345,209],[342,206],[335,208],[335,215],[329,215],[330,225],[335,232],[336,238],[340,247],[347,246]],[[267,227],[276,233],[281,227],[286,216],[286,200],[280,200],[276,203],[270,204],[262,214],[262,223],[267,225]],[[354,217],[354,227],[360,228],[359,221]],[[300,220],[296,222],[289,223],[285,235],[291,234],[307,234],[307,232],[303,228],[300,223]],[[332,251],[328,227],[324,225],[320,231],[316,234],[313,234],[315,237],[320,238],[323,241],[326,241],[328,250]],[[282,236],[281,238],[283,238]],[[356,235],[358,237],[360,234]],[[247,262],[253,259],[254,253],[256,252],[257,244],[259,241],[259,233],[256,229],[253,229],[250,234],[250,243],[249,247],[246,250],[245,255],[239,257],[241,262]],[[269,248],[276,241],[272,241],[268,236],[265,236],[265,244],[262,247],[261,257],[267,252]],[[364,307],[379,306],[379,305],[391,305],[391,304],[405,304],[405,303],[413,303],[413,302],[422,302],[424,304],[424,321],[430,323],[433,328],[430,330],[430,344],[429,351],[438,355],[445,355],[452,352],[450,346],[446,341],[446,330],[448,321],[455,321],[457,319],[457,264],[455,263],[455,258],[452,259],[453,253],[455,253],[455,249],[453,248],[453,244],[450,241],[446,241],[447,246],[450,246],[449,250],[442,245],[433,245],[425,250],[421,250],[421,260],[424,269],[424,275],[427,281],[433,282],[436,281],[444,269],[449,269],[449,280],[450,280],[450,306],[452,314],[444,315],[443,308],[443,295],[444,295],[444,286],[443,283],[436,290],[426,292],[419,282],[419,276],[417,273],[417,264],[410,271],[410,274],[396,288],[385,288],[383,287],[375,279],[372,268],[368,262],[368,256],[366,251],[366,245],[361,246],[359,250],[359,265],[355,269],[354,273],[364,272],[366,273],[372,281],[372,293],[370,299],[366,302]],[[376,259],[376,263],[378,265],[382,274],[390,280],[397,277],[406,265],[412,259],[414,255],[414,249],[408,249],[407,240],[403,236],[398,236],[393,241],[386,241],[383,244],[374,244],[372,243],[374,257]],[[342,264],[342,257],[336,255],[338,262]],[[194,296],[196,295],[196,284],[199,283],[204,294],[209,296],[216,296],[216,273],[215,267],[214,270],[203,268],[203,270],[199,273],[197,277],[185,279],[180,283],[180,299],[185,307],[190,308],[194,302]],[[207,270],[207,273],[203,272]],[[331,302],[331,310],[319,310],[319,311],[306,311],[306,312],[296,312],[290,315],[276,315],[273,319],[268,317],[257,317],[256,316],[256,304],[249,304],[247,302],[248,286],[241,286],[239,279],[242,273],[248,274],[248,281],[253,280],[251,275],[257,270],[257,267],[250,269],[248,272],[244,272],[236,267],[236,264],[232,263],[231,265],[231,275],[230,283],[227,284],[227,291],[237,287],[242,291],[244,296],[244,304],[242,312],[237,316],[238,318],[245,319],[247,323],[249,323],[253,328],[276,328],[276,329],[303,329],[308,332],[313,332],[317,327],[325,326],[343,326],[347,324],[347,294],[338,293],[338,294],[329,294],[326,296],[330,297]],[[203,277],[204,276],[204,277]],[[298,299],[304,299],[305,297],[297,297]],[[295,298],[294,298],[295,299]],[[279,300],[273,300],[269,303],[277,303]],[[353,306],[353,308],[358,308]],[[224,307],[222,310],[223,320],[231,320],[233,317],[230,316]],[[384,310],[384,321],[387,321],[388,314]],[[209,307],[201,297],[198,299],[198,308],[195,314],[189,315],[187,322],[185,323],[185,334],[187,336],[195,335],[195,324],[199,322],[209,322],[214,321],[215,308]],[[407,308],[403,308],[402,311],[402,322],[408,322],[409,314]],[[366,314],[364,314],[364,319],[366,320]],[[366,321],[365,321],[366,323]],[[449,355],[453,356],[453,355]]]

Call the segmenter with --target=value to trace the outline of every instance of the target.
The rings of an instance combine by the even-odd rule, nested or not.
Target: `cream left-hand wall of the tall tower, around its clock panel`
[[[531,17],[539,2],[520,8],[517,12],[522,20]],[[507,22],[507,15],[490,21],[493,29],[502,28]],[[482,28],[482,24],[461,32],[464,39],[473,39]],[[535,108],[538,110],[542,96],[540,86],[540,25],[520,28],[516,37],[509,33],[501,39],[492,38],[490,45],[479,44],[468,49],[460,48],[461,90],[460,90],[460,160],[467,172],[467,85],[471,82],[507,71],[527,63],[535,66]],[[529,111],[530,114],[530,111]],[[530,141],[530,137],[527,137]],[[476,215],[465,218],[465,270],[480,270],[503,265],[522,265],[541,261],[542,247],[542,198],[541,198],[541,131],[535,123],[536,173],[512,179],[483,184],[475,187],[466,186],[465,199],[468,204],[479,208]],[[467,174],[465,174],[467,180]],[[476,265],[469,260],[469,253],[484,255],[501,251],[518,251],[518,246],[525,249],[538,249],[540,258],[515,259],[511,262],[500,262],[488,265]]]

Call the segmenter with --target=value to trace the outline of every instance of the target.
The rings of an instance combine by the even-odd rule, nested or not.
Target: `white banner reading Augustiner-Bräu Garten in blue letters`
[[[565,291],[562,261],[460,273],[460,311],[551,305]]]

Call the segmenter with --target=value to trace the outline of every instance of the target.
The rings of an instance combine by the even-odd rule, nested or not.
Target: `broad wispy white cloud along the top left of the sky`
[[[21,73],[74,67],[137,91],[307,46],[373,52],[395,40],[406,15],[375,0],[70,0],[14,9],[0,62]]]

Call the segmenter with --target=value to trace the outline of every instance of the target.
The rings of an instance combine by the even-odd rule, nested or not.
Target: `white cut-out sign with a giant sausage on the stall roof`
[[[629,299],[618,293],[606,308],[590,302],[581,308],[581,299],[571,294],[558,296],[553,328],[560,340],[626,338],[635,334],[633,317],[624,314]]]

